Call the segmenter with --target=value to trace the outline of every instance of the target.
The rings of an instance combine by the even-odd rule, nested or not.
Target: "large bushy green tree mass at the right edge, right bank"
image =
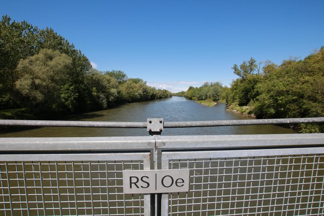
[[[324,48],[304,60],[283,61],[257,86],[259,118],[323,116]]]

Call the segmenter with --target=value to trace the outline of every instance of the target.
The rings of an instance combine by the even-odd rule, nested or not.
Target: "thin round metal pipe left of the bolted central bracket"
[[[0,126],[37,127],[93,127],[93,128],[146,128],[146,122],[102,122],[102,121],[44,121],[0,119]]]

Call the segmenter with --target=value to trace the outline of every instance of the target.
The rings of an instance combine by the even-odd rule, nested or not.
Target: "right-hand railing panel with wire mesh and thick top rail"
[[[184,138],[157,139],[162,169],[190,170],[189,192],[162,194],[162,215],[323,215],[324,135]]]

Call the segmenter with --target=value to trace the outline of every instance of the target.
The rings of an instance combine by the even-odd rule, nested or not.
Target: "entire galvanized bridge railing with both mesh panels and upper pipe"
[[[4,121],[0,125],[21,125]],[[166,127],[244,121],[323,123],[324,118],[105,124],[140,126],[154,135]],[[24,124],[61,124],[37,122]],[[189,169],[189,191],[124,194],[126,169]],[[0,138],[0,215],[263,214],[324,214],[324,134]]]

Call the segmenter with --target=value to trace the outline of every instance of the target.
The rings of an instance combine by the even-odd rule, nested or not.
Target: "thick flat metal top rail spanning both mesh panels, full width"
[[[0,151],[222,149],[323,145],[324,134],[0,138]]]

